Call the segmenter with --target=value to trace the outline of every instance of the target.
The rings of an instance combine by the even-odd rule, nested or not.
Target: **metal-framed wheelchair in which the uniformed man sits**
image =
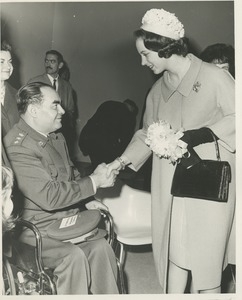
[[[107,231],[106,239],[114,243],[113,219],[108,211],[100,210],[101,226]],[[38,228],[26,220],[17,220],[15,228],[27,227],[35,236],[35,247],[14,239],[10,232],[11,254],[3,254],[2,294],[3,295],[56,295],[56,278],[53,270],[42,262],[42,239]]]

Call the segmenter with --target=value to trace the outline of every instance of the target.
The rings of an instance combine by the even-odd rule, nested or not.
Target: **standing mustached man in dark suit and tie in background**
[[[76,108],[73,99],[73,89],[69,81],[63,79],[59,73],[64,68],[65,62],[62,54],[57,50],[49,50],[45,54],[45,73],[29,80],[52,85],[61,98],[61,105],[65,110],[62,120],[61,132],[65,136],[69,153],[74,156],[75,119]]]

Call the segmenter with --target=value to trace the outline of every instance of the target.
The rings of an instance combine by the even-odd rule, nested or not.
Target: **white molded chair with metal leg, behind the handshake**
[[[151,196],[150,193],[129,187],[117,180],[112,188],[99,189],[95,195],[105,204],[113,217],[117,246],[117,257],[121,293],[126,294],[124,284],[124,262],[126,245],[146,245],[151,238]],[[117,250],[117,249],[116,249]]]

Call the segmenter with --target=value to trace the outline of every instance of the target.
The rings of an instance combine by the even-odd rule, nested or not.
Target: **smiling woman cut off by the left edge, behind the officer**
[[[12,48],[5,41],[1,41],[1,126],[2,138],[19,121],[19,113],[16,102],[17,90],[7,80],[13,73]],[[2,164],[10,167],[6,151],[2,144]]]

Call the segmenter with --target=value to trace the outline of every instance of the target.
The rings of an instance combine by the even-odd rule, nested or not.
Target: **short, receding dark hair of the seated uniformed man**
[[[17,93],[17,106],[20,114],[27,111],[29,104],[41,104],[43,101],[42,87],[50,87],[51,85],[43,82],[32,82],[24,85]]]

